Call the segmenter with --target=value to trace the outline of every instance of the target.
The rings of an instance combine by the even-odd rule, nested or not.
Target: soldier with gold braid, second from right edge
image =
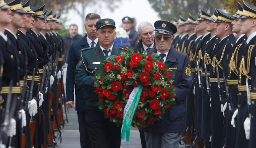
[[[235,145],[235,128],[230,124],[232,115],[237,109],[237,101],[238,101],[238,89],[237,89],[237,84],[238,84],[238,75],[239,75],[239,63],[238,60],[241,60],[242,56],[247,53],[247,50],[244,49],[244,46],[246,44],[246,39],[247,36],[245,34],[242,34],[240,31],[240,25],[239,21],[241,21],[241,18],[237,18],[238,16],[241,15],[243,11],[243,7],[238,2],[238,11],[236,12],[233,17],[235,20],[232,22],[232,32],[237,34],[237,41],[230,52],[230,56],[228,58],[228,78],[227,79],[227,85],[228,85],[228,93],[229,97],[227,97],[227,118],[226,118],[226,125],[227,125],[227,138],[226,138],[226,147],[227,148],[234,148]],[[225,80],[224,80],[225,81]],[[230,97],[231,96],[231,97]]]

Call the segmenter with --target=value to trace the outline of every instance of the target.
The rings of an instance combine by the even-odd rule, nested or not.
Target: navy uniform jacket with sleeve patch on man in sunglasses
[[[147,55],[156,53],[156,47],[154,46]],[[185,126],[185,101],[187,92],[190,91],[192,84],[190,60],[184,53],[180,53],[175,50],[173,46],[166,57],[164,62],[168,68],[167,70],[171,74],[175,74],[175,86],[176,104],[171,106],[164,114],[164,119],[155,122],[154,125],[150,125],[142,130],[152,133],[174,133],[184,132]]]

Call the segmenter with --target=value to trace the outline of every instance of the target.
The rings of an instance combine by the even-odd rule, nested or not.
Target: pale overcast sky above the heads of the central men
[[[79,7],[78,7],[79,9]],[[81,8],[80,8],[81,9]],[[101,18],[112,18],[117,26],[122,25],[122,18],[124,16],[135,17],[137,19],[137,25],[143,21],[149,21],[154,26],[154,22],[160,20],[158,13],[152,9],[148,0],[123,0],[121,5],[115,9],[114,12],[111,12],[106,7],[102,7],[101,12],[95,11],[90,7],[86,7],[85,14],[90,12],[100,14]],[[70,10],[69,14],[63,15],[63,17],[67,16],[67,21],[65,25],[77,24],[78,25],[78,33],[83,33],[83,25],[81,17],[78,14]],[[137,30],[137,26],[136,26]]]

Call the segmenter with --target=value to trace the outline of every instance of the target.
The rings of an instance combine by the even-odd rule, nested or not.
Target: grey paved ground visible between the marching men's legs
[[[78,119],[75,109],[69,109],[69,123],[66,123],[62,130],[62,143],[56,148],[81,148],[79,142]],[[140,133],[132,128],[130,132],[130,141],[121,143],[121,148],[141,148]],[[179,148],[185,148],[180,146]]]

